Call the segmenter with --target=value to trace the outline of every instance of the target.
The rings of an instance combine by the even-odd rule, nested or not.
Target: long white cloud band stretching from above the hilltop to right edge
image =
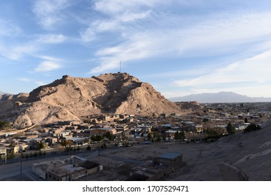
[[[91,73],[118,68],[118,61],[134,61],[154,56],[182,57],[217,56],[232,53],[262,52],[271,47],[271,13],[240,14],[235,17],[211,19],[191,24],[185,29],[178,26],[150,26],[148,31],[127,29],[124,42],[96,52],[100,65]],[[167,21],[170,23],[171,17]],[[164,22],[165,23],[165,22]],[[172,24],[169,24],[172,26]],[[256,49],[257,48],[257,49]]]

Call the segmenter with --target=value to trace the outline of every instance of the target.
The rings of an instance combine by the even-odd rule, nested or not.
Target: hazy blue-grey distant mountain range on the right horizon
[[[219,93],[201,93],[186,95],[183,97],[169,98],[172,102],[190,102],[196,101],[200,103],[229,103],[229,102],[271,102],[271,98],[251,98],[247,95],[240,95],[233,92]]]

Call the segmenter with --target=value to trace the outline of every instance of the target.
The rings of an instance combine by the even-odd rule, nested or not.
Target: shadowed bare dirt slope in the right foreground
[[[271,180],[271,126],[256,132],[238,132],[212,143],[154,143],[104,150],[91,158],[104,167],[80,180],[126,180],[131,169],[164,153],[182,153],[184,166],[161,180],[219,181],[219,164],[238,167],[249,180]]]

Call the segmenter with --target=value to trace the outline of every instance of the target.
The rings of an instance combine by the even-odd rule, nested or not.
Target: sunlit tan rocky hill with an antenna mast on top
[[[153,86],[127,73],[91,78],[63,76],[34,89],[26,100],[17,98],[11,97],[12,105],[8,110],[9,119],[17,127],[57,120],[79,120],[82,116],[100,113],[146,116],[181,112],[176,104],[155,91]]]

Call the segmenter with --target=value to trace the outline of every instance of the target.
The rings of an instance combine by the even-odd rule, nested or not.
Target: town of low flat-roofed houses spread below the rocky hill
[[[95,167],[97,167],[95,171],[102,171],[102,164],[76,157],[76,153],[72,158],[80,159],[80,163],[73,163],[71,158],[66,162],[65,159],[46,162],[46,156],[87,150],[96,150],[100,154],[100,150],[105,148],[147,146],[154,143],[209,143],[231,134],[232,132],[228,130],[229,124],[234,128],[233,132],[243,132],[251,123],[261,127],[261,123],[270,119],[270,114],[270,103],[216,103],[201,104],[201,109],[186,115],[172,113],[147,117],[95,114],[82,120],[33,125],[25,130],[1,130],[0,162],[8,164],[18,158],[42,156],[45,158],[42,160],[44,162],[32,165],[33,173],[45,180],[74,180],[79,176],[93,173]],[[182,156],[181,153],[178,155]],[[79,170],[78,166],[84,164],[83,162],[88,162],[88,165],[95,164],[90,168],[92,171],[87,171],[86,168]],[[59,168],[61,170],[75,171],[77,176],[65,176],[65,171],[61,173],[62,175],[53,173],[56,164],[59,164],[57,167],[63,166]],[[68,168],[70,166],[74,169]],[[134,170],[141,172],[137,168]],[[156,178],[160,173],[157,174],[150,176],[149,179]],[[50,177],[53,175],[53,178]]]

